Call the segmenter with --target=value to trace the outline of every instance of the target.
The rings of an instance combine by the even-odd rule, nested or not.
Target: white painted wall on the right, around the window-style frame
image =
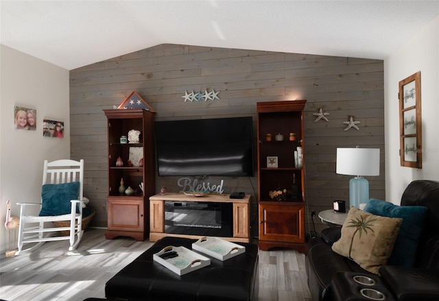
[[[384,60],[385,195],[400,204],[412,180],[439,180],[439,16]],[[420,71],[423,168],[400,166],[399,82]]]

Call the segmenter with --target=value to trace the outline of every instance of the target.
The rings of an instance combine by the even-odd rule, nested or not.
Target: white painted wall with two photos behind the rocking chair
[[[70,158],[69,71],[0,45],[0,87],[0,252],[4,252],[6,201],[11,201],[12,215],[17,216],[16,202],[39,202],[43,161]],[[36,131],[14,130],[14,106],[37,110]],[[64,138],[43,137],[43,119],[64,121]]]

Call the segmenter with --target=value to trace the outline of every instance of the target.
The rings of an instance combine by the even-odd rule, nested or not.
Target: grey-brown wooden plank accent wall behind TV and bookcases
[[[184,101],[185,91],[219,91],[215,101]],[[71,158],[85,160],[84,195],[97,211],[91,226],[106,227],[106,117],[137,91],[156,110],[156,120],[252,116],[256,156],[256,103],[307,99],[305,170],[307,231],[325,226],[311,211],[348,201],[351,176],[335,173],[337,147],[379,147],[380,176],[369,177],[370,197],[384,198],[383,61],[242,49],[158,45],[70,72]],[[314,122],[322,108],[327,121]],[[359,129],[344,132],[353,115]],[[196,134],[196,133],[188,133]],[[215,133],[212,133],[215,134]],[[287,133],[283,133],[287,135]],[[255,160],[256,166],[256,160]],[[255,167],[256,169],[256,167]],[[193,178],[191,178],[193,180]],[[156,191],[180,191],[178,178],[158,177]],[[218,184],[221,178],[200,178]],[[276,188],[276,187],[274,187]],[[224,178],[225,193],[252,195],[252,235],[257,227],[257,173],[253,178]]]

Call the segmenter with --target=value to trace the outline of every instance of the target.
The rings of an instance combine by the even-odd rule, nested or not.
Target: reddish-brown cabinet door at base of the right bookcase
[[[259,204],[259,239],[305,242],[305,206],[287,202]]]

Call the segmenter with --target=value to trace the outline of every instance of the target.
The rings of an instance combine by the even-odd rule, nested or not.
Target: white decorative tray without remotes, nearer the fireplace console
[[[203,252],[220,261],[226,261],[229,258],[246,252],[246,247],[217,237],[202,237],[195,241],[195,243],[192,243],[192,249]]]

